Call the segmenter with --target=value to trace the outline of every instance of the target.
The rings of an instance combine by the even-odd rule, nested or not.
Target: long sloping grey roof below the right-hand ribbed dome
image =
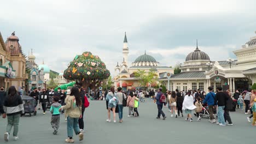
[[[205,71],[186,71],[176,75],[171,75],[171,79],[184,79],[184,78],[205,78]]]

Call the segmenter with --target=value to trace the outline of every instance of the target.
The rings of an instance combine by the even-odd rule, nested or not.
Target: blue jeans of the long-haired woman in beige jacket
[[[75,131],[75,135],[78,135],[80,133],[80,129],[79,129],[79,126],[78,126],[78,119],[79,118],[67,117],[68,137],[73,137],[73,129]]]

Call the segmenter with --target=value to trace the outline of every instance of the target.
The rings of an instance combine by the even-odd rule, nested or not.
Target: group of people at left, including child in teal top
[[[9,87],[8,94],[4,92],[4,87],[0,87],[0,113],[3,118],[8,119],[7,129],[4,133],[4,140],[9,140],[9,135],[12,127],[14,140],[18,140],[18,130],[20,116],[24,114],[24,105],[22,97],[18,95],[14,86]],[[38,92],[37,88],[34,88],[30,93],[30,97],[33,97],[35,101],[39,101],[42,104],[43,115],[45,115],[46,104],[51,103],[51,127],[54,129],[53,134],[56,135],[60,128],[60,115],[65,115],[67,122],[67,136],[66,142],[73,143],[73,130],[75,135],[79,136],[79,141],[83,140],[84,133],[84,111],[89,106],[89,101],[80,86],[75,86],[67,91],[58,88],[54,92],[53,88],[50,91],[42,89],[42,92]],[[49,97],[53,97],[53,101],[49,100]],[[34,105],[35,111],[37,110],[37,103]]]

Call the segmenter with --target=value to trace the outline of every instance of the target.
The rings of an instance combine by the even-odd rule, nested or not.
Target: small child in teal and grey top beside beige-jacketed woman
[[[52,114],[51,116],[51,127],[53,127],[54,132],[53,134],[56,135],[59,127],[60,127],[60,111],[59,109],[61,108],[61,104],[58,103],[59,97],[54,97],[53,98],[53,104],[51,105],[50,112]]]

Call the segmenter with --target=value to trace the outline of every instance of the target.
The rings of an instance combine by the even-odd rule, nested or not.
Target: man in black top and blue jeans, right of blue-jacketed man
[[[226,122],[224,119],[224,108],[226,105],[226,100],[228,100],[229,97],[222,91],[222,87],[217,87],[217,93],[215,97],[214,104],[218,105],[218,123],[221,126],[225,126]]]

